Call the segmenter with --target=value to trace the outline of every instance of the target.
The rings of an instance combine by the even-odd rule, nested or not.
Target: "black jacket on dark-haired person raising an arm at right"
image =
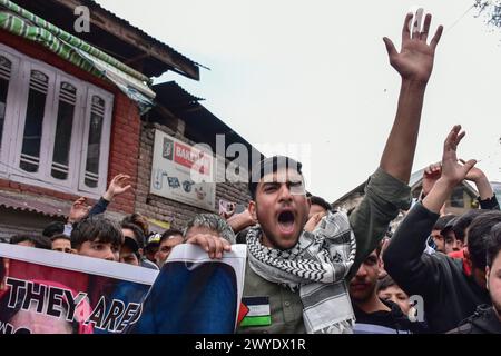
[[[463,271],[460,259],[423,253],[439,215],[418,202],[384,251],[384,268],[409,295],[423,298],[431,333],[446,333],[490,304],[489,293]]]

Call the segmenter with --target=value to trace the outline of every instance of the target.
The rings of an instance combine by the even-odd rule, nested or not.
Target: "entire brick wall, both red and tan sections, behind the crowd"
[[[188,140],[179,132],[173,131],[167,126],[148,126],[147,123],[141,123],[136,105],[116,87],[62,60],[40,44],[27,41],[2,30],[0,30],[0,42],[115,95],[108,184],[116,175],[127,174],[131,177],[132,189],[117,197],[109,206],[109,210],[119,214],[141,212],[149,218],[170,221],[173,227],[177,228],[184,227],[194,215],[207,212],[196,207],[149,194],[155,139],[154,129],[160,129],[189,145],[195,145],[195,142]],[[78,198],[78,196],[58,190],[39,188],[4,179],[0,179],[0,189],[43,195],[69,201]],[[216,208],[219,199],[247,205],[249,199],[247,185],[217,184],[215,211],[217,211]]]

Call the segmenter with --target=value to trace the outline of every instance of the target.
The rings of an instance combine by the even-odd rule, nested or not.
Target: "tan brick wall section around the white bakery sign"
[[[207,211],[183,202],[149,194],[155,129],[159,129],[188,145],[195,145],[195,142],[181,136],[179,132],[175,132],[167,126],[158,123],[143,123],[139,148],[138,185],[136,191],[136,211],[149,218],[169,221],[171,224],[171,227],[174,228],[183,228],[186,222],[196,214]],[[215,210],[210,212],[218,212],[219,199],[247,205],[248,200],[250,199],[247,192],[247,185],[217,184],[216,201],[214,207]]]

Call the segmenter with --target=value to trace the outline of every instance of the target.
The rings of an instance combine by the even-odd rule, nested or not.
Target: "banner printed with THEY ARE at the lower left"
[[[0,334],[121,333],[157,271],[0,244]]]

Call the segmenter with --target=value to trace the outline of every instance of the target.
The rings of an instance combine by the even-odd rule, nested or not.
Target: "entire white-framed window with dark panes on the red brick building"
[[[112,95],[0,44],[0,175],[106,190]]]

